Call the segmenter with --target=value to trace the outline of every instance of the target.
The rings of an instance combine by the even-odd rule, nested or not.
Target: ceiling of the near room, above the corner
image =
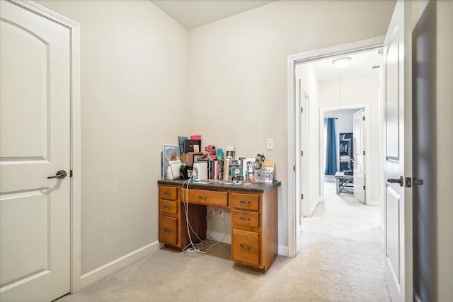
[[[275,0],[151,0],[188,30],[236,13],[270,4]]]

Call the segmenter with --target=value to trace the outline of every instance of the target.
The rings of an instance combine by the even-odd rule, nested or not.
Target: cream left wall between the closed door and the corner
[[[81,273],[98,272],[159,248],[160,152],[187,124],[188,33],[150,1],[38,3],[81,25]]]

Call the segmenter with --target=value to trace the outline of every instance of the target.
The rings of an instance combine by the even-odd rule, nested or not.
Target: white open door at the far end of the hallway
[[[352,117],[352,152],[354,152],[354,196],[365,204],[365,155],[363,146],[363,109]]]

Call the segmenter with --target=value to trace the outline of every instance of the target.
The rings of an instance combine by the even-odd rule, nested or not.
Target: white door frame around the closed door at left
[[[6,0],[68,28],[71,35],[71,293],[81,289],[81,115],[80,25],[30,0]]]

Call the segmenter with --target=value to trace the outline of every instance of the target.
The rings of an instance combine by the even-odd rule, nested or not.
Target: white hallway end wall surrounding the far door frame
[[[340,104],[340,81],[328,80],[319,83],[320,108],[338,108]],[[365,150],[369,157],[365,164],[369,165],[369,201],[376,203],[380,200],[381,165],[380,150],[382,146],[379,122],[379,75],[370,74],[349,79],[342,79],[342,106],[346,108],[356,105],[369,106],[369,137],[365,137]],[[367,123],[365,122],[365,123]],[[323,141],[323,132],[321,132]]]

